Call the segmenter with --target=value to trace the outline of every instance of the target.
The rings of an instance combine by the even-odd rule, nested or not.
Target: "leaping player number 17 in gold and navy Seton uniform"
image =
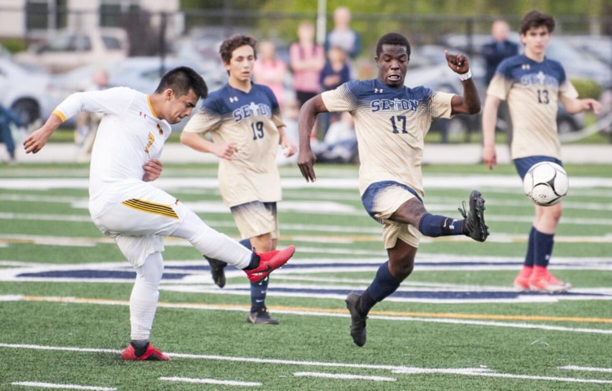
[[[476,114],[480,99],[472,80],[468,59],[446,53],[450,69],[463,80],[463,96],[406,88],[404,79],[410,59],[408,40],[397,33],[383,35],[376,46],[378,78],[349,81],[333,91],[308,100],[299,115],[298,165],[306,181],[316,180],[310,149],[310,129],[316,114],[348,111],[353,116],[359,141],[359,191],[371,217],[383,224],[384,246],[389,261],[379,267],[362,294],[351,293],[346,306],[351,313],[351,336],[363,346],[365,319],[377,302],[389,296],[412,272],[421,234],[466,235],[483,242],[488,229],[484,200],[477,190],[465,203],[463,220],[432,215],[423,205],[421,162],[425,134],[431,121],[454,114]]]

